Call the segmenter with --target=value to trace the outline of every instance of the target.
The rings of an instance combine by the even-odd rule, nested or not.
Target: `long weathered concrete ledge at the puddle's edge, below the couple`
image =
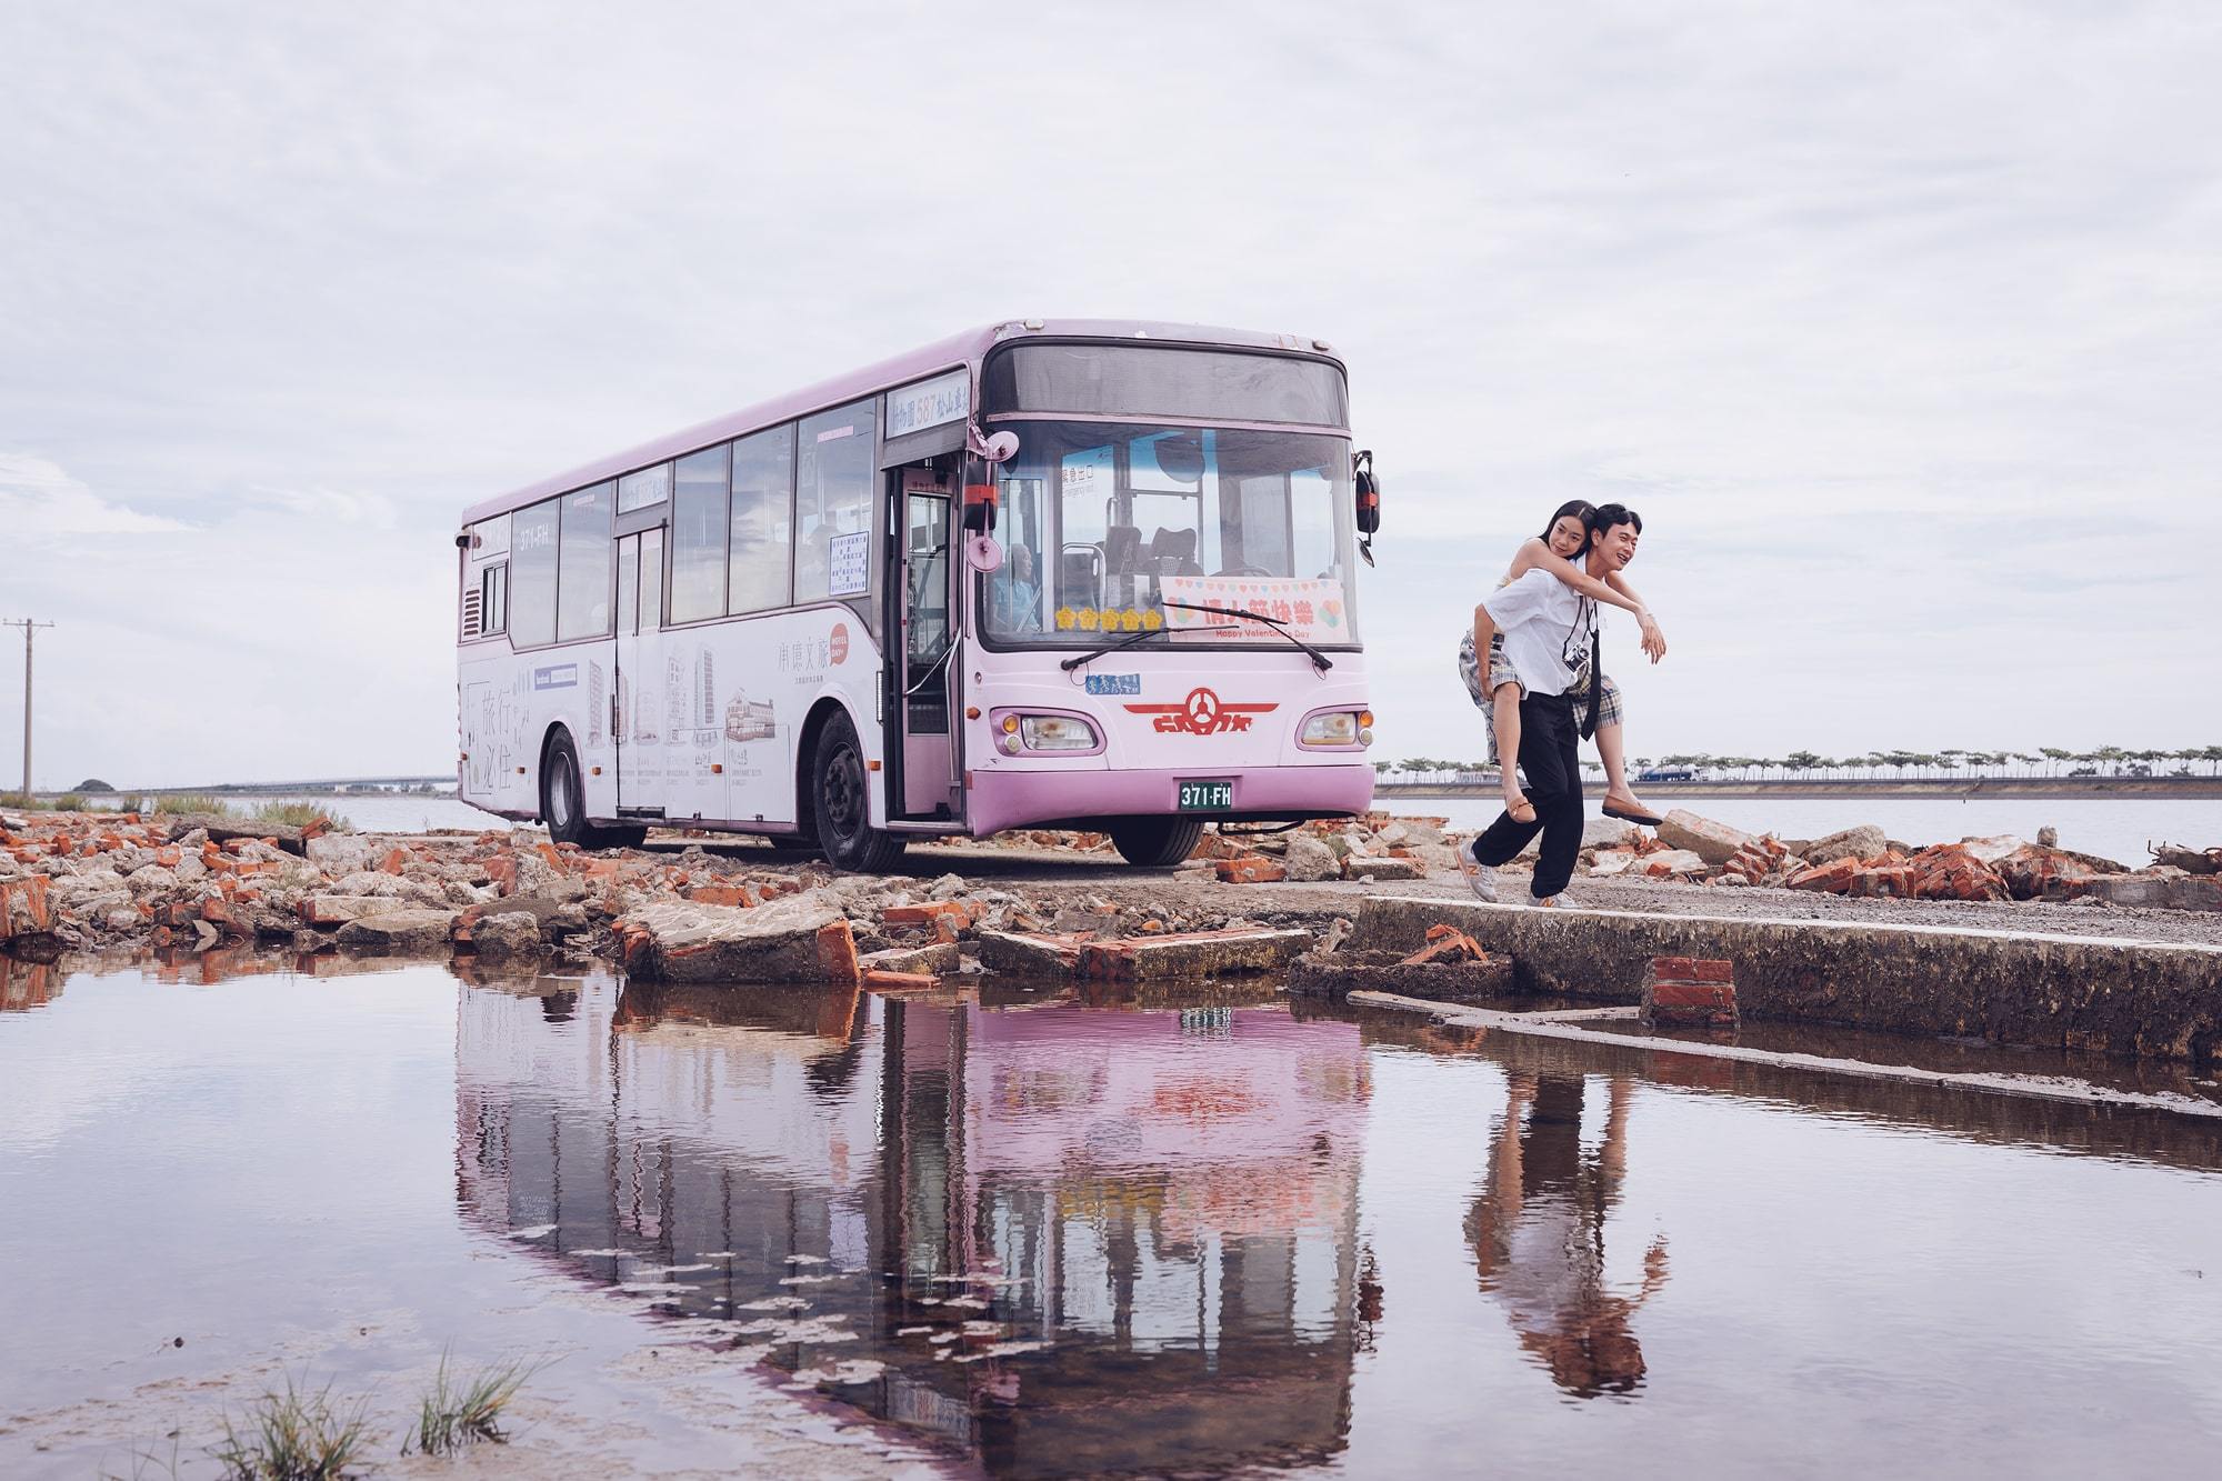
[[[2211,1063],[2222,947],[1938,925],[1529,910],[1369,898],[1353,947],[1409,952],[1451,923],[1509,952],[1520,992],[1638,1003],[1653,956],[1735,963],[1746,1018],[1969,1034],[2046,1050]]]

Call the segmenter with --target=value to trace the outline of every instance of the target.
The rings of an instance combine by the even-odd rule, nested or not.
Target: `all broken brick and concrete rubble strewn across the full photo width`
[[[1247,921],[1220,885],[1424,883],[1455,872],[1453,843],[1444,818],[1382,812],[1289,829],[1231,827],[1204,834],[1191,861],[1158,874],[1162,887],[1109,889],[1120,896],[1113,901],[1071,887],[1029,894],[962,874],[835,876],[815,863],[758,863],[751,849],[584,854],[527,829],[384,836],[238,818],[4,812],[0,950],[27,961],[109,945],[182,954],[240,943],[311,954],[453,950],[487,970],[620,958],[638,976],[684,983],[960,972],[1149,981],[1278,967],[1309,945],[1295,938],[1302,932],[1289,941],[1271,932],[1231,938],[1229,927],[1240,936],[1318,925],[1304,916],[1320,910],[1282,903],[1278,921],[1271,910],[1264,923]],[[1011,858],[1022,849],[1102,856],[1115,867],[1100,834],[1024,832],[951,852]],[[2222,865],[2211,863],[2222,849],[2164,849],[2164,863],[2131,872],[2011,836],[1913,847],[1853,827],[1798,841],[1682,809],[1655,832],[1591,818],[1582,836],[1589,878],[2222,912],[2222,874],[2213,872]],[[1331,901],[1320,896],[1322,907]]]

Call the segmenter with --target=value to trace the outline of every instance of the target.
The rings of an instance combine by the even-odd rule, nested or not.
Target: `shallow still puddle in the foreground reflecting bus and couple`
[[[400,1410],[444,1345],[558,1354],[536,1443],[620,1470],[758,1454],[658,1376],[680,1350],[724,1405],[800,1381],[858,1465],[991,1474],[2120,1474],[2222,1441],[2193,1119],[1260,990],[9,972],[4,1474],[204,1434],[278,1361]]]

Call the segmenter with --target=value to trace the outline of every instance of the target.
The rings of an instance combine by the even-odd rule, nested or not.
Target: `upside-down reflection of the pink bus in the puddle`
[[[593,1283],[673,1281],[633,1296],[673,1314],[802,1296],[855,1341],[769,1361],[884,1363],[829,1392],[1000,1474],[1342,1450],[1380,1303],[1360,1276],[1355,1025],[538,987],[573,998],[567,1021],[462,992],[467,1221],[553,1225],[527,1248]],[[1000,1330],[902,1334],[967,1319]],[[993,1341],[1040,1348],[978,1356]]]

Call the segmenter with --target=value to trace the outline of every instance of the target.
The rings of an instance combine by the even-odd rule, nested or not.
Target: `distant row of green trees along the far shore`
[[[2200,767],[2198,772],[2193,767]],[[1373,769],[1384,778],[1420,783],[1455,783],[1467,778],[1495,776],[1487,761],[1438,761],[1431,756],[1409,756],[1404,761],[1375,761]],[[1584,772],[1600,769],[1598,763],[1582,761]],[[1675,756],[1635,756],[1631,772],[1689,769],[1715,781],[1875,781],[1875,778],[1966,778],[1982,776],[2222,776],[2222,745],[2195,745],[2180,752],[2129,749],[2100,745],[2089,752],[2071,752],[2042,745],[2035,752],[1869,752],[1864,756],[1820,756],[1815,752],[1791,752],[1789,756],[1713,756],[1711,752],[1684,752]]]

